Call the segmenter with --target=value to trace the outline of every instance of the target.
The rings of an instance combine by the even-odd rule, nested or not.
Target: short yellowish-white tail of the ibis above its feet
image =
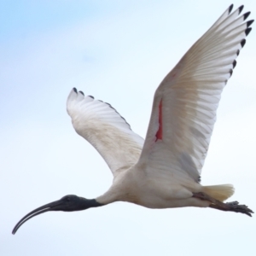
[[[203,186],[203,192],[205,192],[207,195],[212,196],[218,201],[225,201],[234,194],[235,189],[231,184],[223,184],[214,186]]]

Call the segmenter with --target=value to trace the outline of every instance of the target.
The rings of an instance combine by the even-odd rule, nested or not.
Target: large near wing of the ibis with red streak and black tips
[[[152,175],[170,173],[198,181],[216,119],[220,95],[253,20],[233,5],[189,49],[155,91],[140,163]],[[155,172],[155,173],[154,173]]]

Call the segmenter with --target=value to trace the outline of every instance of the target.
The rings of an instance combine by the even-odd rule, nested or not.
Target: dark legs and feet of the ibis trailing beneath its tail
[[[241,212],[241,213],[247,214],[250,217],[252,217],[251,213],[254,213],[247,206],[239,205],[238,201],[224,203],[222,201],[218,201],[212,198],[210,195],[207,195],[203,192],[193,193],[193,197],[212,202],[209,207],[213,209],[217,209],[221,211],[229,211],[229,212]]]

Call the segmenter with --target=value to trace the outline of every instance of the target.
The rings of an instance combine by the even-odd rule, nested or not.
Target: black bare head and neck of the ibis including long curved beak
[[[37,216],[38,214],[50,211],[63,211],[63,212],[73,212],[86,210],[90,207],[101,207],[102,204],[98,203],[95,199],[85,199],[84,197],[79,197],[77,195],[65,195],[58,201],[50,202],[43,207],[38,207],[37,209],[29,212],[20,219],[20,221],[15,225],[13,234],[24,224],[28,219]]]

